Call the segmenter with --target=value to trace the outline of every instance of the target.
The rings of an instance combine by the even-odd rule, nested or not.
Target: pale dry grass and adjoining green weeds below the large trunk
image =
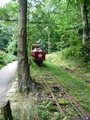
[[[54,112],[53,103],[49,100],[38,102],[36,94],[34,90],[28,96],[17,93],[18,102],[12,105],[14,120],[62,120],[61,114]]]

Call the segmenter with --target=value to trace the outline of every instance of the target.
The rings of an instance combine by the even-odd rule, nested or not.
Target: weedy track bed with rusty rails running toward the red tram
[[[37,83],[41,86],[38,98],[40,103],[43,101],[51,101],[53,105],[51,113],[54,114],[55,111],[59,112],[60,120],[89,120],[88,115],[81,108],[80,103],[75,101],[74,98],[63,89],[60,83],[58,83],[57,77],[49,73],[49,71],[43,71],[43,67],[38,69],[40,76],[35,79],[38,79]]]

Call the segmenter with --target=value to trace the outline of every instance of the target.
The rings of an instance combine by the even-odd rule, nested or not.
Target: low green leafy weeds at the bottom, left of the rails
[[[55,112],[55,107],[51,101],[42,101],[42,104],[38,105],[37,109],[40,120],[60,120],[62,118],[59,112]],[[54,115],[52,115],[53,112]]]

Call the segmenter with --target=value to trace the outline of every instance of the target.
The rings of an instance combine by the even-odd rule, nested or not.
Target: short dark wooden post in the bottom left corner
[[[2,105],[1,113],[3,115],[3,120],[13,120],[10,101],[7,101]]]

